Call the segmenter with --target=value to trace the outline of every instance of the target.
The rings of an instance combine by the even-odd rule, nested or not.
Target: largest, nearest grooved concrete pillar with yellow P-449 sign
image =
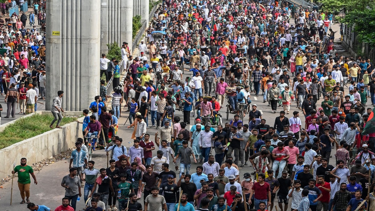
[[[58,90],[63,109],[82,111],[99,95],[100,0],[49,0],[46,110]]]

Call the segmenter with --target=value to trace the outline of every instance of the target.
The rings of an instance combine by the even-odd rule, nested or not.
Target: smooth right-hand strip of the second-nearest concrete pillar
[[[132,50],[132,43],[133,43],[133,1],[132,0],[121,0],[121,43],[127,42],[130,48],[130,51]]]

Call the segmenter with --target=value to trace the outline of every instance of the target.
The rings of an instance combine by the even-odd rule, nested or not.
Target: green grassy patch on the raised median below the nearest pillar
[[[16,122],[8,125],[0,133],[0,149],[52,130],[49,125],[53,119],[54,117],[49,114],[35,114],[27,118],[17,119]],[[76,117],[64,117],[60,126],[76,120]]]

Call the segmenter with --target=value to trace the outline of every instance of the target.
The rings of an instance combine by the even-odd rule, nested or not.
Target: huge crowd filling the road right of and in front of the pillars
[[[107,93],[102,80],[100,95],[90,104],[92,115],[84,110],[80,123],[84,137],[93,134],[99,144],[111,139],[105,147],[110,167],[96,168],[87,159],[86,140],[79,138],[56,211],[81,206],[81,188],[86,211],[272,211],[275,198],[281,211],[289,204],[292,211],[375,209],[375,133],[362,134],[373,114],[372,107],[366,109],[369,96],[375,106],[372,63],[338,55],[332,14],[288,2],[261,3],[163,1],[147,43],[139,45],[141,56],[133,59],[127,43],[122,45],[123,86],[119,62],[102,55],[101,75],[107,81],[118,78],[114,93]],[[166,34],[156,41],[152,31]],[[183,78],[180,62],[189,63],[192,77]],[[273,127],[251,104],[250,96],[259,96],[260,89],[272,113],[283,107]],[[51,108],[57,121],[62,96],[59,91]],[[215,130],[211,123],[226,99],[237,114]],[[290,111],[294,99],[296,109]],[[123,104],[128,128],[134,127],[129,148],[115,135]],[[248,108],[249,121],[239,119],[240,104]],[[177,109],[183,109],[183,121]],[[290,112],[293,116],[285,116]],[[204,116],[212,121],[202,124]],[[155,134],[148,130],[153,127]],[[196,173],[190,174],[192,163]],[[245,166],[254,170],[242,178],[239,168]],[[30,174],[37,181],[26,158],[14,172],[21,203],[51,210],[30,202]]]

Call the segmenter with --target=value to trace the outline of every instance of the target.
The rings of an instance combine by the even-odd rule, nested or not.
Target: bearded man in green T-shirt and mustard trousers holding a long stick
[[[38,182],[36,181],[36,177],[34,175],[33,168],[31,166],[27,166],[26,158],[21,158],[21,165],[16,166],[12,171],[12,174],[18,173],[18,188],[21,192],[21,203],[25,203],[25,196],[26,202],[30,203],[30,174],[34,179],[34,183],[37,185]]]

